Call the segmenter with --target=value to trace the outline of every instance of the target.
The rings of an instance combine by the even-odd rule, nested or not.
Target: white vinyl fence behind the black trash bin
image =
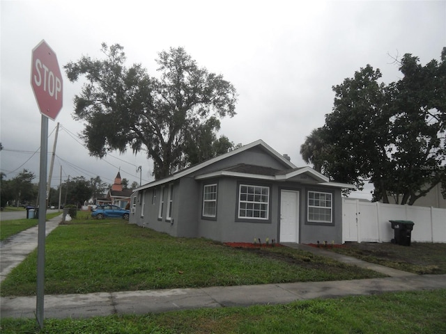
[[[412,241],[446,242],[446,209],[342,199],[342,242],[389,242],[390,220],[413,221]]]

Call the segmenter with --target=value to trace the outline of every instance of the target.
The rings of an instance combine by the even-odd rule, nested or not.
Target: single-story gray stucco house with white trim
[[[130,223],[222,242],[340,244],[343,188],[259,140],[135,189]]]

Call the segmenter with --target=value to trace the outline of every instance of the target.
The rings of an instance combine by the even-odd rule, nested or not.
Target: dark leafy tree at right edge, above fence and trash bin
[[[422,66],[419,61],[411,54],[401,60],[404,77],[397,83],[391,129],[396,145],[390,192],[409,205],[437,184],[446,191],[446,47],[440,63],[433,59]]]

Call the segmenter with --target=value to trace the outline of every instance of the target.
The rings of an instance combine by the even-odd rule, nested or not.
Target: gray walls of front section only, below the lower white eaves
[[[257,184],[270,186],[270,219],[265,222],[240,221],[237,219],[238,210],[238,184]],[[342,240],[342,202],[341,191],[309,184],[268,183],[252,182],[252,180],[233,179],[229,177],[220,180],[208,180],[201,183],[201,189],[205,184],[217,183],[217,218],[203,218],[201,216],[203,191],[199,195],[200,217],[197,236],[219,241],[253,242],[254,238],[260,238],[263,242],[279,240],[280,236],[280,192],[282,190],[299,191],[299,242],[302,244],[314,244],[316,241],[334,241],[340,244]],[[308,191],[323,191],[332,193],[332,223],[312,223],[307,218],[307,193]]]

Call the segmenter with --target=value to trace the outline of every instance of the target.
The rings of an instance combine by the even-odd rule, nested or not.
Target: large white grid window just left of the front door
[[[238,191],[238,218],[268,220],[270,188],[240,184]]]

